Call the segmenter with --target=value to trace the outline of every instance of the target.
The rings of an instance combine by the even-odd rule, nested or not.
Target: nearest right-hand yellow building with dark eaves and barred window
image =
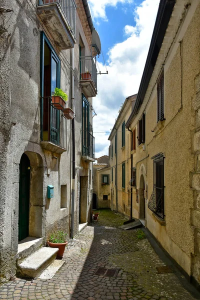
[[[133,217],[199,284],[200,3],[161,0],[132,131]],[[134,134],[136,132],[136,134]]]

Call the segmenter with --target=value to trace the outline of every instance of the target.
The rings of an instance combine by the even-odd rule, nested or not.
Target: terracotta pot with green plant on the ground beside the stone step
[[[68,243],[66,241],[66,235],[67,234],[64,233],[63,231],[53,232],[50,235],[49,240],[47,241],[49,247],[59,249],[56,256],[57,259],[62,259],[65,246]]]

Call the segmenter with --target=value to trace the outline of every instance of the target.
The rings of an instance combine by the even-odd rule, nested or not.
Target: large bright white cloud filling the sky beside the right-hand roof
[[[90,2],[101,3],[99,0]],[[116,3],[117,0],[103,0],[102,3]],[[126,39],[115,44],[108,51],[108,75],[98,75],[98,95],[93,98],[97,115],[93,118],[96,157],[108,154],[108,135],[95,133],[109,131],[113,127],[121,102],[137,93],[143,72],[159,0],[144,0],[133,11],[136,25],[126,25],[123,30]],[[102,9],[106,4],[99,4]],[[107,4],[108,5],[108,4]],[[99,7],[99,11],[100,11]],[[106,18],[105,10],[102,17]],[[99,63],[101,71],[104,66]]]

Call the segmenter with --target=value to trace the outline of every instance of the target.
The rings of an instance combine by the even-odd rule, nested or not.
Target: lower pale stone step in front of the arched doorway
[[[55,259],[58,248],[43,247],[26,257],[17,266],[17,274],[34,278]]]

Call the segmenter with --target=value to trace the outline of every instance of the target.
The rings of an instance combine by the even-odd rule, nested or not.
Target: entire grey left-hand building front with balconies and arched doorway
[[[50,232],[61,229],[69,238],[90,220],[94,28],[87,1],[67,3],[0,5],[1,282],[27,255],[21,244],[31,241],[31,252]],[[55,87],[68,95],[71,116],[52,104]]]

